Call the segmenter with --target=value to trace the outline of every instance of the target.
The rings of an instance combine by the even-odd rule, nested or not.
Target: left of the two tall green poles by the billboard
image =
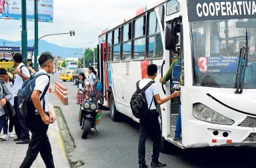
[[[21,53],[23,62],[27,65],[27,1],[21,1],[22,31],[21,31]]]

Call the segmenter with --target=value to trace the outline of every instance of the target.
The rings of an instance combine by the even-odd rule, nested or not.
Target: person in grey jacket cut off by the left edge
[[[5,85],[5,82],[3,80],[0,80],[0,82],[1,82],[0,84],[0,133],[1,133],[1,130],[6,122],[6,114],[3,106],[5,106],[7,101],[11,100],[12,94],[8,90],[7,86]],[[7,132],[4,132],[4,134],[6,135]],[[3,138],[2,140],[6,140],[6,139]]]

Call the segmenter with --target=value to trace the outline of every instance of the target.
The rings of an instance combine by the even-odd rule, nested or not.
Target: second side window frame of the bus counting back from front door
[[[145,27],[145,35],[141,36],[141,37],[136,37],[134,38],[135,36],[135,21],[137,21],[138,19],[141,19],[141,17],[145,17],[145,25],[143,25],[143,27]],[[146,55],[147,55],[147,13],[143,13],[142,15],[139,15],[138,17],[135,17],[135,19],[133,19],[132,21],[132,39],[131,39],[131,60],[132,61],[141,61],[141,60],[145,60],[146,58]],[[134,41],[136,40],[139,40],[139,39],[143,39],[145,38],[145,56],[144,58],[141,58],[141,59],[138,59],[138,60],[135,60],[134,59]]]

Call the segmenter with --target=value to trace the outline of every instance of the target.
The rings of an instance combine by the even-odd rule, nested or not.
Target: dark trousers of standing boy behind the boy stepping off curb
[[[17,96],[14,98],[14,106],[16,116],[15,116],[15,132],[17,137],[20,137],[22,140],[29,139],[29,129],[27,129],[26,120],[19,112],[19,101]]]

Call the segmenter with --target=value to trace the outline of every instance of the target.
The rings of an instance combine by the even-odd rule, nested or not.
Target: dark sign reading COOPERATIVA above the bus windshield
[[[189,0],[189,21],[256,18],[255,0]]]

